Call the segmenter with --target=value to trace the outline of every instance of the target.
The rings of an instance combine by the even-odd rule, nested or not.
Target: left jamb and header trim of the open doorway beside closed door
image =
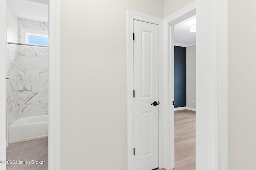
[[[164,133],[167,150],[165,168],[171,170],[174,168],[174,25],[187,18],[196,15],[196,2],[192,2],[170,16],[164,18],[164,98],[166,103],[164,107]],[[169,160],[169,161],[167,161]]]

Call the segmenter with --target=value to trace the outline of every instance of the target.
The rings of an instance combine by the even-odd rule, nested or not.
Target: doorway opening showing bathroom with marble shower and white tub
[[[6,0],[6,40],[6,169],[47,170],[48,0]]]

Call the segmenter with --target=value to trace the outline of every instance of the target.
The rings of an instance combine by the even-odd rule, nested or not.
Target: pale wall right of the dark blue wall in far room
[[[192,102],[194,100],[194,103]],[[196,108],[196,46],[186,47],[186,106]]]

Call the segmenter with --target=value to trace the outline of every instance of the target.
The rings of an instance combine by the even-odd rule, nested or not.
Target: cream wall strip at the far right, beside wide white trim
[[[256,169],[256,1],[228,1],[228,166]],[[238,11],[239,10],[239,11]]]

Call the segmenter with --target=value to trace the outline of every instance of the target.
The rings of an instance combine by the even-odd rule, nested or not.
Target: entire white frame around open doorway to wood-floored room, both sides
[[[197,9],[197,10],[196,10]],[[170,104],[174,100],[174,24],[196,14],[196,169],[228,170],[228,45],[227,0],[197,0],[164,18],[164,95]],[[211,25],[211,26],[209,26]],[[202,31],[204,30],[204,31]],[[209,36],[211,34],[211,36]],[[205,41],[206,40],[206,41]],[[207,43],[210,42],[210,43]],[[210,45],[210,44],[213,45]],[[206,45],[205,45],[206,44]],[[208,55],[213,61],[206,61]],[[170,59],[170,60],[169,60]],[[206,61],[206,62],[205,62]],[[204,63],[205,62],[205,63]],[[202,66],[202,65],[207,66]],[[198,66],[201,65],[201,66]],[[170,70],[169,70],[170,69]],[[208,79],[204,74],[209,73]],[[205,82],[210,82],[206,84]],[[167,83],[166,83],[167,82]],[[168,90],[171,89],[171,92]],[[212,91],[209,95],[205,92]],[[164,98],[166,98],[164,96]],[[170,100],[172,99],[172,100]],[[206,102],[203,102],[206,101]],[[213,102],[212,102],[213,101]],[[168,151],[166,169],[174,168],[174,106],[164,106],[167,129],[164,136]],[[209,109],[213,119],[205,119]],[[171,113],[171,114],[168,114]],[[170,117],[169,117],[170,116]],[[210,133],[209,139],[205,134]],[[171,148],[166,148],[170,147]],[[210,152],[208,152],[210,150]],[[166,164],[165,164],[166,165]]]

